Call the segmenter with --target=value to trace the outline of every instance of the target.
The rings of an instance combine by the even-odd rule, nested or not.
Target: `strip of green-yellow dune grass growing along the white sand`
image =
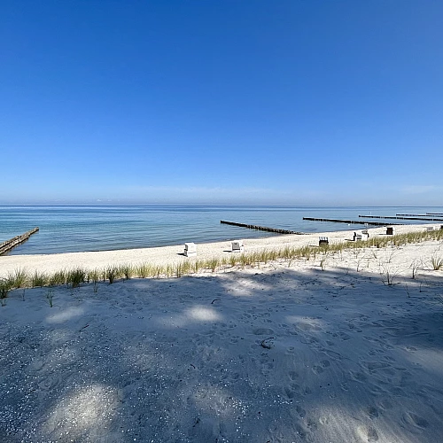
[[[58,270],[51,275],[38,271],[30,274],[26,269],[17,269],[6,278],[0,279],[0,299],[5,299],[10,291],[19,288],[57,286],[62,284],[68,284],[72,288],[77,288],[84,283],[92,282],[94,284],[94,291],[97,292],[97,285],[100,280],[113,284],[121,278],[126,280],[129,278],[179,278],[197,274],[200,271],[211,271],[214,273],[221,269],[235,268],[237,266],[240,268],[257,267],[260,266],[260,263],[267,263],[268,261],[315,260],[319,254],[321,257],[320,266],[324,270],[327,258],[334,253],[354,251],[355,257],[358,260],[363,248],[373,248],[374,257],[377,258],[376,250],[379,248],[392,245],[416,244],[426,240],[443,240],[443,229],[409,232],[389,237],[371,237],[367,241],[338,242],[320,247],[310,245],[301,247],[285,246],[281,249],[263,249],[252,253],[231,253],[229,257],[225,258],[214,257],[209,260],[186,260],[180,263],[167,264],[166,266],[154,265],[152,263],[121,264],[101,269],[74,268]],[[434,255],[430,260],[432,269],[439,270],[443,268],[443,258],[441,256]],[[415,273],[416,268],[413,268],[413,278]],[[391,281],[391,278],[389,278],[388,284]]]

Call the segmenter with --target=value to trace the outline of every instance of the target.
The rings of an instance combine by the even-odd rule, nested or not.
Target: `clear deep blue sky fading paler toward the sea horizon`
[[[443,205],[440,0],[0,0],[0,204]]]

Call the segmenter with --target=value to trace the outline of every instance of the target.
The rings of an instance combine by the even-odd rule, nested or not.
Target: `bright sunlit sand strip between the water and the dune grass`
[[[422,231],[432,226],[439,229],[437,223],[420,225],[396,225],[397,234]],[[245,253],[254,253],[263,250],[283,249],[284,247],[302,247],[305,245],[318,245],[318,237],[328,237],[330,243],[346,242],[353,237],[354,231],[361,229],[340,230],[329,232],[316,232],[302,235],[281,235],[272,237],[257,237],[245,239]],[[385,236],[385,227],[369,228],[369,236]],[[229,257],[231,254],[231,240],[197,244],[197,260],[211,260],[214,257]],[[189,241],[192,241],[191,239]],[[175,265],[187,260],[195,260],[183,255],[184,245],[156,246],[137,249],[119,249],[113,251],[96,251],[83,253],[55,253],[55,254],[30,254],[30,255],[5,255],[0,256],[0,277],[5,277],[16,269],[26,269],[28,272],[54,273],[59,270],[73,268],[105,268],[107,266],[129,264],[138,265],[152,263],[155,265]]]

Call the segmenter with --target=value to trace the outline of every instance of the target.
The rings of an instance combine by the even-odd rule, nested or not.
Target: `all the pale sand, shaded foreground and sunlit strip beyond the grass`
[[[415,229],[425,226],[396,232]],[[353,233],[247,240],[245,252]],[[198,245],[198,258],[229,249]],[[4,256],[0,276],[189,260],[182,253]],[[431,260],[441,257],[429,240],[97,291],[11,291],[0,307],[0,441],[443,441],[443,267]]]

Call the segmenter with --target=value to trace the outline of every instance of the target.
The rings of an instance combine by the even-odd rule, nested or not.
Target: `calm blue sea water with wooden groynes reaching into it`
[[[359,214],[426,213],[443,213],[443,206],[0,206],[0,243],[38,226],[39,232],[8,254],[107,251],[276,235],[221,224],[221,220],[324,232],[364,229],[364,225],[304,221],[303,217],[359,220]],[[426,222],[374,221],[386,224]]]

